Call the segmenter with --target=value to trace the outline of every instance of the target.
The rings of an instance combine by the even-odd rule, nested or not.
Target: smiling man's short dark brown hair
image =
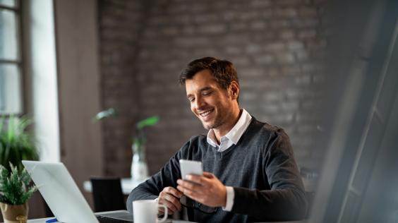
[[[239,83],[238,74],[234,64],[227,60],[220,60],[214,57],[203,57],[191,61],[188,66],[181,71],[179,82],[185,85],[185,81],[192,79],[196,73],[209,70],[221,88],[227,90],[232,81]]]

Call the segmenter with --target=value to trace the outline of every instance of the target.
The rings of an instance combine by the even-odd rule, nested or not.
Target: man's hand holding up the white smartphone
[[[227,188],[212,173],[203,176],[188,175],[187,180],[179,179],[177,189],[189,198],[209,207],[225,207]]]

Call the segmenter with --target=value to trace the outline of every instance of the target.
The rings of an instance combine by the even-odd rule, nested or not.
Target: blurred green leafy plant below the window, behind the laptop
[[[30,124],[32,120],[26,117],[0,117],[0,164],[4,167],[9,168],[8,163],[11,162],[18,169],[22,169],[21,160],[39,159],[33,137],[26,130]]]

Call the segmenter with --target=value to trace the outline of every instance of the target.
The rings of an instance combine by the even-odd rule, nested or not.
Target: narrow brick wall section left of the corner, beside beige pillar
[[[143,20],[140,1],[99,1],[102,107],[119,116],[102,123],[104,173],[128,176],[131,130],[139,114],[140,90],[135,76],[135,54]]]

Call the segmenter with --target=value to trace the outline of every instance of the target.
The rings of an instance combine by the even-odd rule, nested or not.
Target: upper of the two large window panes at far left
[[[16,13],[0,9],[0,59],[18,59],[17,28]]]

